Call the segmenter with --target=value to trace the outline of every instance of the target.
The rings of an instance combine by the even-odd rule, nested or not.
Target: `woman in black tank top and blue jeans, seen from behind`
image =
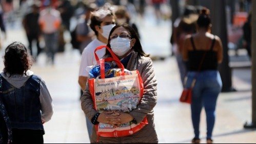
[[[215,107],[222,81],[218,63],[223,59],[221,39],[210,33],[209,10],[204,8],[197,20],[198,32],[188,35],[184,41],[183,59],[188,61],[186,88],[196,79],[192,89],[191,117],[194,128],[192,143],[200,143],[200,115],[204,107],[207,123],[207,143],[212,143],[215,123]]]

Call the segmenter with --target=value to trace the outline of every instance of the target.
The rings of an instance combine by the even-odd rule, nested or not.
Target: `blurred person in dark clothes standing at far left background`
[[[38,19],[40,15],[39,8],[40,6],[38,6],[37,4],[33,4],[32,12],[26,14],[22,22],[28,38],[28,49],[30,50],[31,56],[33,56],[35,60],[42,50],[40,47],[40,39],[39,39],[41,35],[40,25],[38,23]],[[33,45],[32,45],[33,41],[36,42],[36,48],[37,48],[35,55],[33,54],[34,53]]]

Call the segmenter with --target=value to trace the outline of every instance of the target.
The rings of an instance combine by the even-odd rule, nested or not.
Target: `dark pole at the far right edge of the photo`
[[[252,122],[248,124],[247,122],[244,125],[244,128],[256,128],[256,1],[251,1],[251,86],[252,86],[252,95],[251,95],[251,102],[252,102]]]

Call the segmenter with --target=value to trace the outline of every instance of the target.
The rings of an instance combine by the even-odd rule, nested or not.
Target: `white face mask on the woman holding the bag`
[[[117,56],[123,56],[131,49],[130,41],[129,38],[117,37],[110,41],[110,46]]]

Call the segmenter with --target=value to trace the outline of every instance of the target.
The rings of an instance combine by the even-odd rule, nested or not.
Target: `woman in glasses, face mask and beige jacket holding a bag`
[[[140,123],[144,117],[147,117],[148,124],[140,131],[125,137],[101,137],[97,136],[95,127],[93,127],[91,142],[100,143],[157,143],[158,138],[154,126],[153,108],[156,105],[157,81],[154,75],[154,69],[149,55],[145,54],[140,39],[136,32],[127,24],[116,25],[111,31],[108,38],[108,47],[120,59],[124,67],[128,70],[139,70],[143,84],[144,94],[139,105],[129,113],[106,111],[98,113],[93,108],[93,101],[86,86],[82,96],[82,109],[91,119],[92,123],[105,123],[111,125],[120,125],[128,122]],[[111,57],[106,51],[104,58]],[[112,67],[116,67],[112,62]],[[96,116],[95,116],[96,115]]]

